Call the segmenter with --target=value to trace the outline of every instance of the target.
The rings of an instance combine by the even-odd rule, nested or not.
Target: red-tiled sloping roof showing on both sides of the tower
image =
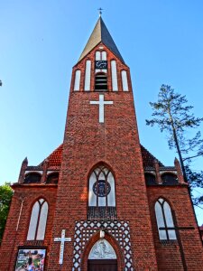
[[[45,160],[49,161],[49,167],[60,166],[62,157],[63,145],[61,144],[55,151],[53,151]],[[154,167],[154,160],[157,160],[148,150],[146,150],[143,145],[141,145],[141,152],[143,156],[143,167]],[[45,161],[44,160],[44,161]],[[44,162],[43,161],[43,162]],[[158,161],[158,160],[157,160]],[[43,164],[42,162],[42,164]],[[158,161],[160,166],[163,166],[160,161]],[[40,164],[40,165],[42,165]]]

